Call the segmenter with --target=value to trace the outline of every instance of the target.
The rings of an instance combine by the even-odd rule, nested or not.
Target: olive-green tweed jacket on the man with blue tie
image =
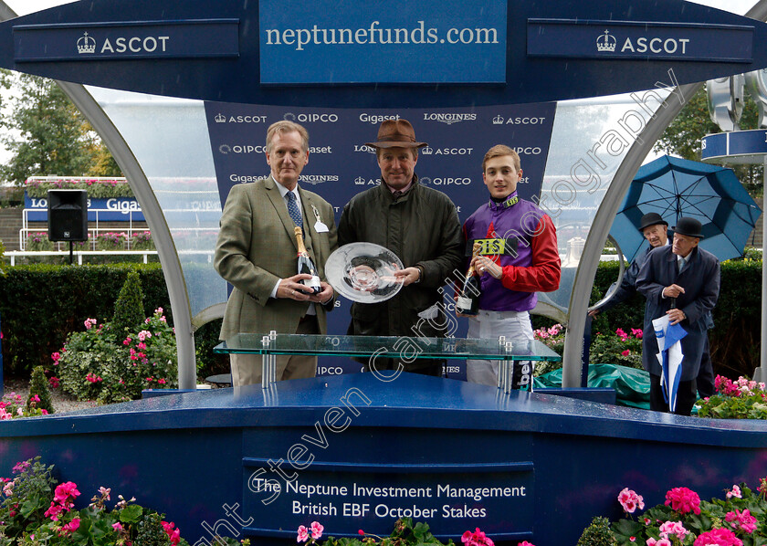
[[[238,332],[295,333],[309,309],[309,302],[269,297],[278,279],[296,275],[298,267],[295,225],[277,184],[271,176],[237,184],[226,198],[214,267],[234,289],[226,303],[222,340]],[[300,187],[299,194],[306,248],[320,279],[327,280],[325,261],[337,247],[333,208],[318,194]],[[317,232],[317,215],[327,232]],[[322,333],[327,331],[325,313],[332,306],[332,300],[315,305]]]

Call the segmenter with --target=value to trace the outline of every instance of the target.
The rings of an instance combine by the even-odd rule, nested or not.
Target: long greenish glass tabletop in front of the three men
[[[217,353],[308,354],[357,356],[380,354],[387,357],[448,358],[508,361],[559,361],[562,357],[541,341],[507,341],[476,338],[409,338],[397,336],[331,336],[238,333],[219,343]]]

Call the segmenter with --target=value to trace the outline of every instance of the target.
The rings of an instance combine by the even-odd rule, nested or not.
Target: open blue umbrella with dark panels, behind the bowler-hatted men
[[[742,256],[762,210],[732,169],[664,155],[639,168],[610,230],[629,260],[648,245],[637,230],[647,213],[661,215],[669,229],[682,216],[699,220],[700,247],[724,261]]]

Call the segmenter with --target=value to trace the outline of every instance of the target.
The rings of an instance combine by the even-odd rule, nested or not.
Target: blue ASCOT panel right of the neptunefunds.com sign
[[[751,62],[753,26],[528,19],[528,55]]]

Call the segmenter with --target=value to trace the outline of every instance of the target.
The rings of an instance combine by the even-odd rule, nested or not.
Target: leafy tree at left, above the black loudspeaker
[[[83,115],[51,79],[28,74],[13,76],[16,96],[11,115],[0,122],[7,132],[0,142],[12,153],[0,165],[5,181],[23,184],[29,176],[119,175],[110,153]]]

